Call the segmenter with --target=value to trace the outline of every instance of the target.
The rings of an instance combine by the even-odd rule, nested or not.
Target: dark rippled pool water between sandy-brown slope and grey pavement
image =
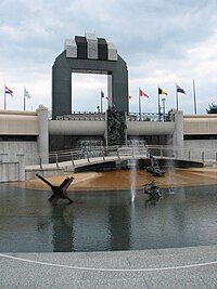
[[[72,193],[50,206],[51,192],[0,185],[1,252],[136,250],[217,244],[217,188]]]

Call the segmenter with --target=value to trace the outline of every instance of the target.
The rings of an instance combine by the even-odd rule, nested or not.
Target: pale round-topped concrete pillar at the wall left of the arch
[[[48,108],[42,104],[36,110],[38,115],[39,136],[38,136],[38,153],[41,156],[42,163],[49,162],[49,120]]]

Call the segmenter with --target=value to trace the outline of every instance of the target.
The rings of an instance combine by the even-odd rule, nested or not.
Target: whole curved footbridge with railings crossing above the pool
[[[49,176],[78,171],[127,169],[131,166],[144,168],[150,154],[152,154],[163,167],[203,167],[204,163],[203,159],[192,160],[186,153],[177,152],[177,149],[174,152],[174,149],[169,147],[95,147],[91,149],[52,153],[49,155],[50,163],[42,163],[41,157],[39,165],[25,167],[25,179],[34,179],[37,172]]]

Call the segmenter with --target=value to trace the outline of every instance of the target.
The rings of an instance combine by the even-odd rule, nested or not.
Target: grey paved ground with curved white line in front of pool
[[[91,253],[0,253],[1,289],[217,288],[217,246]]]

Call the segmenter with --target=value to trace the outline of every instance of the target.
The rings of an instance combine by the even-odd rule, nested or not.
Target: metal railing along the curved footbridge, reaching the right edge
[[[52,152],[49,154],[49,163],[55,163],[56,168],[65,161],[69,161],[72,166],[75,166],[77,160],[86,160],[90,162],[94,161],[97,158],[101,160],[106,160],[110,157],[113,158],[124,158],[124,157],[149,157],[153,155],[157,158],[168,158],[168,159],[181,159],[189,161],[199,161],[205,166],[217,165],[217,150],[202,150],[199,148],[187,148],[187,147],[173,147],[164,145],[137,145],[137,146],[95,146],[95,147],[82,147],[68,150]],[[27,156],[25,156],[27,157]],[[36,159],[36,156],[34,156]],[[46,166],[43,162],[44,155],[38,155],[37,165],[42,168]],[[34,162],[36,165],[36,162]]]

